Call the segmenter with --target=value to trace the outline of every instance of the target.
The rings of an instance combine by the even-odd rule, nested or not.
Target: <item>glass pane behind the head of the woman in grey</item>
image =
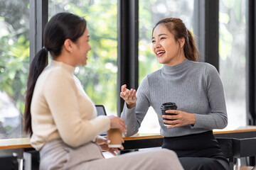
[[[193,0],[139,0],[139,84],[151,72],[162,67],[151,50],[154,25],[163,18],[181,18],[193,31]],[[153,108],[149,108],[139,132],[159,132]]]

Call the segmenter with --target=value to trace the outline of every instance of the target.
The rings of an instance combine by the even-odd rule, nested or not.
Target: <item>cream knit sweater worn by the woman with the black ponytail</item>
[[[110,118],[97,116],[95,105],[74,70],[75,67],[53,60],[36,81],[31,102],[31,145],[37,150],[60,138],[65,144],[78,147],[110,129]]]

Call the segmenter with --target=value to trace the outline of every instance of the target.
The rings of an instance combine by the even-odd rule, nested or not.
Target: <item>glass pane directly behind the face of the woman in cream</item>
[[[107,9],[107,10],[106,10]],[[49,18],[59,12],[85,17],[92,50],[85,67],[75,69],[95,104],[117,114],[117,0],[49,0]]]

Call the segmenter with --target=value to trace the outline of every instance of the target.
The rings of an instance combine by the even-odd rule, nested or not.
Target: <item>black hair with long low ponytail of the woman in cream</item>
[[[57,13],[50,18],[43,33],[43,48],[36,53],[31,62],[24,111],[24,130],[30,135],[33,134],[31,127],[31,101],[36,81],[48,64],[48,52],[53,60],[60,56],[65,40],[70,39],[77,42],[86,29],[84,18],[73,13]]]

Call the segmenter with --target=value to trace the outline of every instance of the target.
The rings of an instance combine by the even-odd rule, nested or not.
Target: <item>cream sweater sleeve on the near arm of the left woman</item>
[[[82,120],[75,88],[74,79],[65,72],[52,72],[43,88],[60,137],[71,147],[93,141],[100,132],[110,129],[110,119],[107,116]]]

